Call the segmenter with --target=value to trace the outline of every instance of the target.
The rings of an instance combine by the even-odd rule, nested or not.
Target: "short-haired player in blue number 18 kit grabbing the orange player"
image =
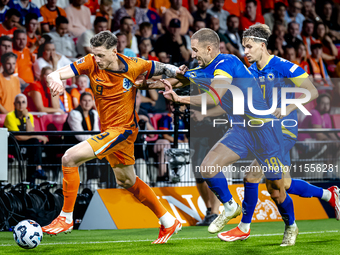
[[[219,37],[211,29],[197,31],[191,38],[191,47],[192,57],[197,59],[199,67],[186,72],[185,76],[207,92],[197,96],[178,96],[171,89],[169,81],[161,80],[168,88],[164,96],[177,103],[195,106],[201,105],[202,98],[205,98],[208,105],[219,102],[233,123],[233,127],[210,150],[200,167],[209,188],[224,205],[224,211],[209,226],[209,232],[219,232],[227,222],[241,213],[240,206],[230,194],[224,174],[218,170],[219,167],[228,166],[247,157],[249,153],[253,153],[266,169],[268,192],[277,204],[286,226],[296,227],[293,202],[286,193],[282,178],[285,162],[284,150],[281,147],[283,144],[281,124],[274,121],[276,119],[274,115],[254,114],[247,104],[248,88],[252,88],[254,108],[268,111],[254,76],[237,57],[219,52]],[[243,114],[242,112],[234,114],[240,109],[244,109]]]

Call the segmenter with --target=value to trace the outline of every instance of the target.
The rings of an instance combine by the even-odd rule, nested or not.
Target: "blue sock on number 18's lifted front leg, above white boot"
[[[204,180],[223,204],[233,198],[228,188],[227,179],[222,172],[219,172],[213,178],[204,178]]]

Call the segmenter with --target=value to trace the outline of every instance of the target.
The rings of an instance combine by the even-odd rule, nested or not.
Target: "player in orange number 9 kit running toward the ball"
[[[138,133],[138,115],[135,112],[137,89],[133,84],[139,75],[175,77],[183,72],[172,65],[117,53],[117,37],[109,31],[96,34],[90,42],[93,54],[52,72],[47,81],[52,95],[56,96],[64,91],[61,80],[87,75],[95,95],[102,133],[73,146],[62,157],[64,205],[60,215],[42,228],[43,232],[55,235],[73,229],[72,212],[80,182],[78,167],[96,157],[106,157],[118,184],[159,218],[161,228],[153,243],[166,243],[182,225],[167,212],[153,190],[135,175],[134,142]]]

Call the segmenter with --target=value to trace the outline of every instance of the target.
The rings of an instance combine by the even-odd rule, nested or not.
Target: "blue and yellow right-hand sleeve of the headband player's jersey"
[[[280,70],[284,72],[284,76],[291,80],[296,87],[300,87],[303,81],[308,78],[308,73],[297,64],[282,60],[279,65],[281,65]]]

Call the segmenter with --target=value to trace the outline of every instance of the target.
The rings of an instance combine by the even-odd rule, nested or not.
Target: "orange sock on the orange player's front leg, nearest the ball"
[[[62,211],[69,213],[73,212],[74,204],[76,203],[80,178],[78,167],[66,167],[62,166],[63,169],[63,195],[64,195],[64,206]]]

